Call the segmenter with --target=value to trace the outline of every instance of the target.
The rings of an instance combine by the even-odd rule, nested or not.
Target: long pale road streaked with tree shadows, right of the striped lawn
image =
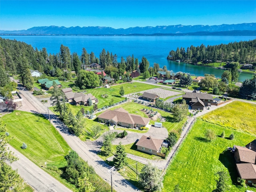
[[[22,106],[19,110],[29,111],[29,112],[39,112],[45,114],[46,117],[48,114],[47,107],[44,106],[37,98],[35,98],[30,92],[22,90],[20,88],[21,96],[26,103],[26,106]],[[31,110],[32,109],[32,110]],[[96,173],[106,180],[109,184],[111,183],[110,173],[108,169],[110,168],[99,156],[96,155],[94,150],[91,150],[86,142],[82,142],[78,137],[70,134],[67,131],[66,126],[58,120],[58,118],[50,111],[52,124],[60,132],[62,137],[66,140],[68,145],[75,150],[79,156],[88,162],[91,166],[94,167]],[[114,171],[112,175],[113,179],[113,188],[118,192],[133,192],[139,191],[136,187],[128,183],[123,176],[118,172]]]

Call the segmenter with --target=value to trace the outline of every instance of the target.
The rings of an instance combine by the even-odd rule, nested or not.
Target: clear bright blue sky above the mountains
[[[0,0],[0,30],[33,26],[220,25],[256,22],[256,0]]]

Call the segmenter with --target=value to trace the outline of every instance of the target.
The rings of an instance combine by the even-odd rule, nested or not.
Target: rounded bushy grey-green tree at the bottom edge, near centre
[[[162,172],[152,164],[145,165],[139,174],[140,185],[149,192],[161,191],[163,188]]]

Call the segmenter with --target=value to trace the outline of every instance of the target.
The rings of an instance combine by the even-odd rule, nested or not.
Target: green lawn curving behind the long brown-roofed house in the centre
[[[140,110],[143,110],[144,108],[148,109],[148,110],[152,109],[154,112],[157,111],[158,113],[161,114],[162,117],[166,118],[166,122],[163,122],[162,124],[168,130],[168,132],[170,132],[171,130],[178,130],[179,128],[182,128],[182,126],[186,122],[186,119],[184,119],[183,121],[180,121],[180,122],[172,122],[172,114],[170,112],[152,108],[150,106],[145,106],[143,104],[138,104],[136,102],[126,102],[124,104],[114,106],[110,110],[114,110],[114,109],[117,109],[120,107],[124,108],[129,113],[140,115],[142,117],[147,117],[147,115],[144,112],[140,111]],[[98,116],[101,113],[102,112],[97,113],[96,116]],[[154,124],[154,122],[155,121],[150,120],[151,124]],[[160,119],[158,118],[158,120],[156,120],[156,122],[160,122]]]

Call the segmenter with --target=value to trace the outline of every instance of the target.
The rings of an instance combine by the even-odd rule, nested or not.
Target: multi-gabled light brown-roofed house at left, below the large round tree
[[[98,99],[95,98],[91,93],[76,93],[72,91],[72,88],[62,89],[62,92],[65,94],[66,102],[74,103],[76,105],[88,105],[89,98],[92,100],[92,103],[98,103]]]

